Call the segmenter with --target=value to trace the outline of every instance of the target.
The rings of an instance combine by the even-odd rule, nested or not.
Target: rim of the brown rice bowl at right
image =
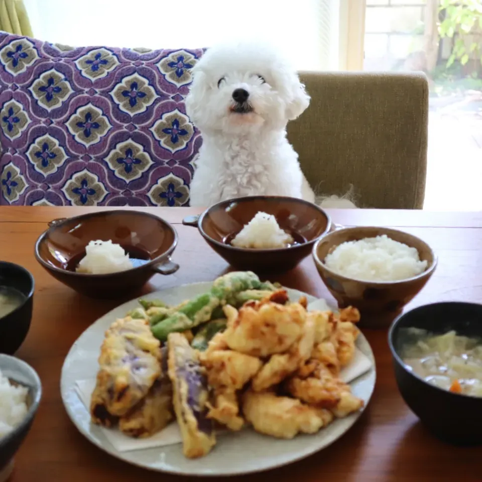
[[[408,234],[408,235],[418,239],[421,243],[423,243],[425,246],[427,246],[427,248],[430,250],[430,253],[432,255],[432,264],[427,269],[425,269],[424,271],[419,273],[418,275],[412,276],[410,278],[404,278],[402,280],[392,280],[392,281],[390,281],[390,280],[387,280],[387,281],[372,281],[372,280],[362,280],[362,279],[359,279],[359,278],[350,278],[348,276],[342,275],[341,273],[337,273],[336,271],[333,271],[330,268],[328,268],[326,266],[326,263],[324,262],[324,260],[321,260],[320,257],[318,256],[318,246],[322,242],[326,241],[326,237],[330,236],[331,234],[335,234],[335,233],[339,233],[339,232],[343,232],[343,231],[354,231],[356,229],[362,229],[362,228],[364,228],[364,229],[367,229],[367,228],[368,229],[385,229],[385,230],[387,230],[387,232],[401,232],[403,234]],[[339,245],[337,245],[337,246],[339,246]],[[435,268],[437,267],[437,264],[438,264],[437,255],[433,251],[432,247],[427,242],[425,242],[422,238],[420,238],[418,236],[415,236],[414,234],[411,234],[407,231],[402,231],[401,229],[393,229],[391,227],[385,227],[385,226],[343,226],[339,229],[336,229],[335,231],[328,232],[324,236],[317,239],[315,246],[313,246],[313,252],[312,253],[313,253],[313,258],[315,260],[315,264],[316,265],[318,265],[318,264],[322,265],[323,270],[325,270],[331,276],[342,279],[343,281],[355,281],[357,283],[367,283],[370,286],[379,286],[379,287],[403,285],[405,283],[410,283],[412,281],[424,278],[425,276],[431,276],[433,274],[433,272],[435,271]]]

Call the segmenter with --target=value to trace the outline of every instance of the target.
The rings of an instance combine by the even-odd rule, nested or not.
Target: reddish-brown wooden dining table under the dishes
[[[35,368],[43,385],[38,414],[15,458],[12,482],[174,482],[188,479],[143,470],[99,450],[77,431],[63,407],[59,383],[67,352],[90,324],[127,300],[94,300],[77,294],[37,263],[34,245],[47,229],[48,221],[97,209],[107,208],[0,207],[0,260],[24,266],[33,274],[36,283],[32,326],[16,356]],[[173,255],[173,261],[180,265],[179,271],[170,276],[156,275],[144,287],[144,292],[212,281],[226,272],[226,262],[209,248],[198,230],[182,224],[185,216],[199,213],[201,209],[136,209],[149,210],[163,217],[179,234]],[[434,249],[439,257],[436,272],[407,310],[446,300],[482,302],[481,212],[358,209],[329,213],[334,222],[343,225],[402,229],[421,237]],[[309,257],[294,270],[272,281],[333,301]],[[387,330],[366,329],[364,334],[375,353],[377,383],[372,400],[355,425],[335,443],[304,460],[231,479],[250,482],[482,480],[482,450],[479,447],[455,447],[437,440],[405,405],[393,374]]]

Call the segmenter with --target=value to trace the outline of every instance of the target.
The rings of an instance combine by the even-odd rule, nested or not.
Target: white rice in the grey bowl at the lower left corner
[[[0,371],[0,439],[14,430],[28,412],[26,387],[11,385]]]

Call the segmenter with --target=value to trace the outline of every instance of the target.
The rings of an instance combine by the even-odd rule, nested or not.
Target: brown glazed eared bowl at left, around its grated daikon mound
[[[55,219],[37,240],[35,257],[56,279],[92,298],[134,297],[155,274],[169,275],[179,266],[171,261],[176,248],[175,229],[160,217],[140,211],[101,211]],[[90,241],[121,245],[134,268],[111,274],[76,273]]]

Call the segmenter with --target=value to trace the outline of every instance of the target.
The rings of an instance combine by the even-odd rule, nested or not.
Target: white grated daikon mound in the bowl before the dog
[[[275,216],[260,211],[236,234],[231,245],[263,250],[285,248],[293,240],[290,234],[281,229]]]

